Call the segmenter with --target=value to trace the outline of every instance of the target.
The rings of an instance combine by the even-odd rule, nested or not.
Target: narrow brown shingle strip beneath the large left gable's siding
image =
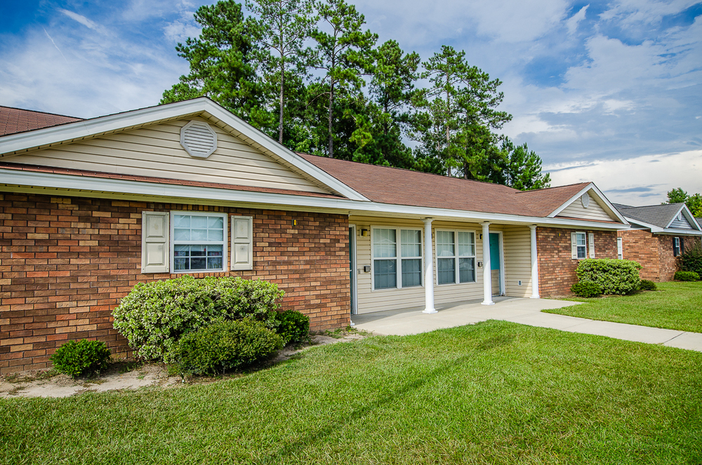
[[[270,194],[287,194],[306,197],[345,198],[333,194],[319,192],[293,191],[292,189],[275,189],[272,187],[240,186],[237,184],[222,184],[219,182],[176,180],[169,177],[152,177],[138,175],[120,175],[117,173],[104,173],[102,171],[74,170],[72,168],[55,168],[52,166],[25,165],[22,163],[2,163],[0,168],[19,171],[33,171],[35,173],[54,173],[58,175],[74,175],[86,177],[100,177],[102,179],[128,180],[140,182],[157,182],[159,184],[176,184],[179,186],[212,187],[214,189],[229,189],[232,191],[267,192]]]

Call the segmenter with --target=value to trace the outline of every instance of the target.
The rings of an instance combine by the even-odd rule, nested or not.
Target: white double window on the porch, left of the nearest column
[[[373,289],[422,285],[421,229],[373,228],[372,236]]]

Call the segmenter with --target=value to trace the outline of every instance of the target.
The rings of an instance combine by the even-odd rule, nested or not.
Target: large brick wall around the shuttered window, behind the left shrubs
[[[143,210],[252,216],[253,271],[207,275],[277,283],[312,330],[349,323],[345,215],[0,193],[0,373],[46,368],[68,339],[128,351],[112,309],[135,283],[178,276],[141,274]]]

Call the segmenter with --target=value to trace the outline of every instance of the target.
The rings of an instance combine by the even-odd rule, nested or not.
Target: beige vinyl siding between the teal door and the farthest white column
[[[503,231],[505,291],[510,297],[530,297],[531,230],[527,226],[505,226]]]

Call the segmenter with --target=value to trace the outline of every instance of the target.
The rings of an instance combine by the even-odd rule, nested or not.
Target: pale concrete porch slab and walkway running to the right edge
[[[702,352],[702,334],[698,332],[664,330],[541,312],[545,309],[560,309],[564,306],[578,305],[581,302],[517,297],[494,297],[494,300],[496,304],[489,306],[480,304],[479,300],[444,306],[437,305],[439,313],[432,315],[423,314],[423,307],[415,307],[354,315],[351,320],[358,330],[366,330],[377,335],[397,336],[413,335],[440,328],[453,328],[486,320],[504,320],[522,323],[522,325],[581,332],[588,335],[614,337],[649,344],[662,344]]]

